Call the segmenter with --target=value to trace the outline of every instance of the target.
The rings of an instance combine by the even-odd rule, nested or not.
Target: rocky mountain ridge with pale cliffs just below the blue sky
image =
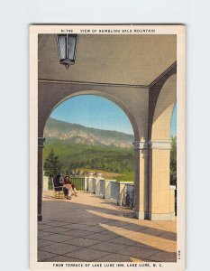
[[[133,142],[133,135],[80,126],[51,117],[46,123],[44,136],[47,140],[59,140],[66,144],[101,145],[120,148],[131,148]]]

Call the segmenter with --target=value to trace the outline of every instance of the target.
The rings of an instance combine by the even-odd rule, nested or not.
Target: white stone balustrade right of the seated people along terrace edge
[[[133,182],[116,182],[102,177],[85,177],[85,191],[93,192],[104,199],[114,201],[117,205],[134,206]]]

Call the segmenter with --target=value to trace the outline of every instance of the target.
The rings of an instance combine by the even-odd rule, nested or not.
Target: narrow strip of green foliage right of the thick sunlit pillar
[[[177,186],[177,136],[171,136],[170,184]]]

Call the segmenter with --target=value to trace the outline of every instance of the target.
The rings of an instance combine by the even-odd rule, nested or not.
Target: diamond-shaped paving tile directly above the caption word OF
[[[104,257],[106,255],[108,255],[108,253],[104,251],[99,251],[90,248],[82,248],[79,249],[78,251],[70,252],[65,256],[78,258],[83,260],[84,262],[90,262],[96,260],[96,258]]]

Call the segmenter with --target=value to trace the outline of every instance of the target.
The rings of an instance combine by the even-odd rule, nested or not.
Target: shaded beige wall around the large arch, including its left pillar
[[[42,149],[44,146],[44,127],[50,113],[55,107],[58,107],[67,98],[73,98],[79,95],[96,95],[113,101],[118,107],[123,109],[125,115],[129,118],[136,145],[135,148],[135,185],[136,190],[140,188],[141,180],[144,180],[145,174],[140,175],[140,160],[138,148],[140,141],[144,144],[148,138],[148,105],[149,92],[147,88],[122,87],[118,85],[62,82],[53,80],[39,80],[38,84],[38,220],[42,220],[41,202],[42,202]],[[132,97],[132,98],[131,98]],[[141,162],[142,163],[142,162]],[[145,162],[146,163],[146,162]],[[144,166],[147,168],[147,166]],[[141,180],[140,180],[141,179]],[[142,181],[143,182],[143,181]],[[141,182],[141,183],[142,183]],[[138,195],[138,193],[137,193]],[[144,197],[141,195],[142,201]],[[139,201],[139,198],[137,199]],[[144,204],[144,203],[143,203]],[[137,205],[137,203],[136,203]],[[139,204],[140,205],[140,204]],[[138,205],[138,206],[139,206]],[[139,217],[139,216],[138,216]]]

